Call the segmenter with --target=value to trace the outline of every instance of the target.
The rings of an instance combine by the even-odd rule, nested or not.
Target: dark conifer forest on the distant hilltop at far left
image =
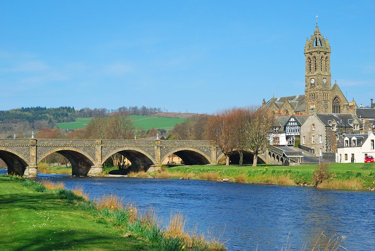
[[[22,107],[9,111],[0,111],[0,123],[7,122],[34,122],[37,120],[46,120],[53,122],[70,122],[76,119],[74,107],[61,106],[58,108],[46,108],[41,106]]]

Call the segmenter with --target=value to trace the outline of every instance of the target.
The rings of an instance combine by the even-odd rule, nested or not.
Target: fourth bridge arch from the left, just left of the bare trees
[[[185,165],[207,165],[212,163],[211,158],[207,154],[190,147],[181,147],[169,151],[161,157],[161,163],[172,154],[179,156]]]

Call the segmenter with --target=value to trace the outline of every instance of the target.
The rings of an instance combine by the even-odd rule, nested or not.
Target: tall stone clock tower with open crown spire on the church
[[[332,113],[332,88],[328,38],[317,26],[305,44],[305,104],[306,113]]]

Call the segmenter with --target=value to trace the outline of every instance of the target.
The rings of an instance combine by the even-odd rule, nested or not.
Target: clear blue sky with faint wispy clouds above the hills
[[[375,98],[374,1],[2,1],[0,110],[160,107],[214,113],[304,94],[304,46],[332,82]],[[333,84],[333,83],[332,83]]]

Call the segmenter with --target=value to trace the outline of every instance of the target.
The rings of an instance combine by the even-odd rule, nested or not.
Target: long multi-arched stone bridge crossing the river
[[[65,156],[72,175],[97,176],[111,155],[120,153],[133,170],[157,169],[171,154],[185,165],[217,164],[220,149],[208,140],[95,140],[95,139],[0,139],[0,158],[8,173],[37,176],[37,165],[51,153]]]

